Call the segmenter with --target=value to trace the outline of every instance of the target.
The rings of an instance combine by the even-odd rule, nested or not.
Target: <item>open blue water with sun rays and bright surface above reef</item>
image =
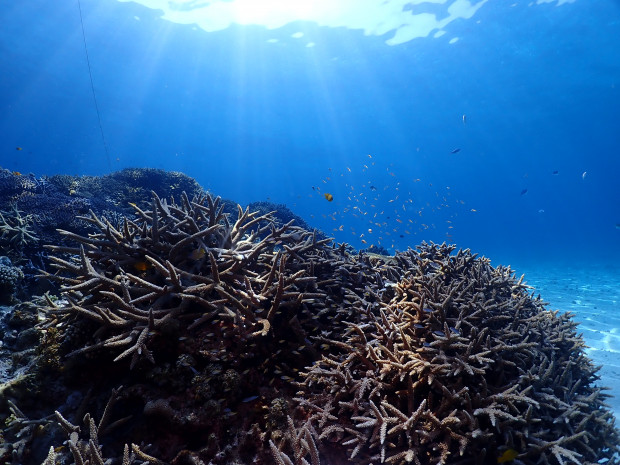
[[[617,262],[618,1],[284,3],[3,4],[0,165],[183,171],[356,248]]]

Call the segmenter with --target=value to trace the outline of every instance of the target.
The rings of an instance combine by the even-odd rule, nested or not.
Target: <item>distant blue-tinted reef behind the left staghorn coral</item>
[[[58,240],[56,229],[87,233],[88,223],[76,218],[93,210],[115,224],[131,216],[130,203],[148,198],[152,189],[169,198],[181,191],[195,195],[202,188],[192,178],[156,169],[125,169],[106,176],[22,175],[0,169],[0,247],[11,247],[24,263],[46,265],[41,244]],[[227,211],[235,205],[226,203]],[[37,242],[35,239],[39,239]],[[4,253],[8,253],[6,250]],[[14,257],[13,257],[14,258]]]

